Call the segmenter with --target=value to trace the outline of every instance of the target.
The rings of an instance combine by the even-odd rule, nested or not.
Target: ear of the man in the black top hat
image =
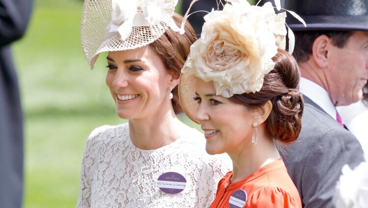
[[[320,35],[315,39],[312,46],[312,56],[320,68],[328,66],[329,48],[332,46],[331,39],[326,35]]]

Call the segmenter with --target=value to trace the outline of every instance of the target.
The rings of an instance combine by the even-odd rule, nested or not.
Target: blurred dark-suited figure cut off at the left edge
[[[21,208],[23,118],[10,45],[29,21],[32,0],[0,0],[0,207]]]

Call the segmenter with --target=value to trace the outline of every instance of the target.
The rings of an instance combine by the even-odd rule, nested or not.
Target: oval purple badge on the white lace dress
[[[158,177],[157,186],[163,192],[175,194],[184,190],[186,180],[184,176],[179,173],[167,172]]]

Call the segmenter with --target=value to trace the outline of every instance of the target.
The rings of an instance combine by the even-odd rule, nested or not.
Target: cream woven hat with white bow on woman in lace
[[[177,3],[178,0],[84,0],[81,40],[91,69],[102,52],[149,45],[168,27],[180,31],[172,19]]]

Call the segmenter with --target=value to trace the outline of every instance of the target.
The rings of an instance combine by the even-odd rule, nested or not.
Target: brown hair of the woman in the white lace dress
[[[174,22],[181,25],[183,17],[177,13],[173,16]],[[185,33],[174,32],[168,28],[166,32],[150,46],[156,51],[158,56],[163,61],[166,70],[174,76],[179,77],[180,71],[184,66],[186,57],[189,55],[190,46],[196,41],[196,35],[190,23],[186,22],[184,26]],[[173,90],[172,105],[175,114],[183,113],[183,109],[179,102],[178,86]]]

